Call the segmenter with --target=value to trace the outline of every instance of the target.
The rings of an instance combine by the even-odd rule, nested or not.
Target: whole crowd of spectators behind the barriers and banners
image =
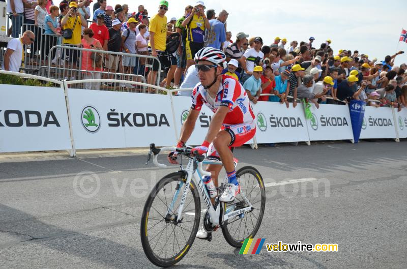
[[[136,61],[131,55],[106,53],[102,64],[95,66],[94,54],[81,53],[79,59],[78,50],[67,50],[61,57],[80,63],[86,72],[78,74],[85,78],[99,78],[93,74],[95,71],[144,74],[149,84],[156,84],[161,66],[167,74],[163,86],[185,88],[198,82],[195,53],[210,46],[225,51],[227,68],[223,73],[239,80],[253,103],[280,102],[287,107],[293,103],[295,107],[299,99],[306,99],[318,107],[321,103],[344,104],[361,99],[373,106],[407,106],[407,66],[394,66],[395,57],[403,51],[379,61],[357,50],[334,51],[330,39],[316,45],[314,37],[289,43],[286,38],[276,37],[272,44],[266,45],[261,37],[249,38],[243,32],[233,36],[227,31],[229,13],[207,9],[202,1],[186,6],[178,19],[167,19],[169,4],[165,0],[159,2],[152,16],[142,5],[137,12],[130,13],[128,5],[113,8],[106,1],[109,0],[98,0],[91,11],[92,0],[63,0],[59,7],[48,0],[10,0],[7,7],[12,20],[10,34],[18,38],[23,21],[40,30],[25,32],[21,42],[9,43],[3,68],[18,71],[15,59],[21,55],[12,57],[12,54],[21,53],[20,47],[30,43],[33,43],[32,51],[40,51],[44,60],[44,55],[62,37],[62,45],[158,58],[147,68],[145,59]],[[86,20],[91,18],[92,23],[88,25]],[[34,33],[39,34],[33,36]],[[44,40],[43,35],[52,38]],[[56,55],[47,56],[56,58]],[[99,86],[91,83],[86,87],[99,89]],[[131,83],[122,86],[134,87]]]

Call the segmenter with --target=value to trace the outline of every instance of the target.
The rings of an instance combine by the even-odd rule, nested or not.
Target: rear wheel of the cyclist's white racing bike
[[[236,175],[239,177],[241,193],[238,194],[235,202],[223,204],[223,212],[226,212],[229,207],[232,207],[232,211],[234,211],[248,206],[242,193],[252,204],[253,210],[228,219],[221,227],[226,242],[230,246],[240,248],[245,239],[253,238],[260,228],[266,206],[266,189],[263,178],[254,167],[245,166],[239,169]]]

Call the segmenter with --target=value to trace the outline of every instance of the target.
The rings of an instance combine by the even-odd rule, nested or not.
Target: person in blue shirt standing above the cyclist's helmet
[[[213,47],[223,50],[223,43],[226,41],[226,30],[224,22],[226,21],[228,15],[229,13],[227,13],[225,10],[222,10],[219,13],[217,19],[212,19],[209,21],[210,28],[207,29],[207,47]]]

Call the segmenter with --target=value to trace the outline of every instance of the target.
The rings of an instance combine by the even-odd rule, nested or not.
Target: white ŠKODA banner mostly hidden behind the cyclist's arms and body
[[[187,119],[189,109],[191,108],[191,97],[184,97],[184,96],[174,96],[173,97],[174,103],[174,110],[175,110],[175,118],[176,118],[176,128],[178,130],[178,134],[181,133],[181,126]],[[200,145],[209,130],[209,123],[212,119],[213,112],[209,109],[206,105],[202,105],[202,109],[199,112],[199,116],[195,123],[195,129],[192,132],[191,137],[187,141],[187,145]],[[256,131],[256,134],[258,129]],[[252,144],[253,139],[250,139],[246,142],[246,144]]]

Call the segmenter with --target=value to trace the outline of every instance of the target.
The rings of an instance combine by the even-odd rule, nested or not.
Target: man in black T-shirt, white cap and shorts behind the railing
[[[109,31],[109,41],[107,43],[107,50],[111,52],[120,52],[122,47],[122,33],[120,32],[121,23],[119,19],[112,21],[112,27]],[[105,72],[108,72],[107,79],[113,79],[114,75],[110,73],[116,73],[119,68],[120,56],[116,54],[110,54],[106,58]],[[112,82],[103,83],[104,86],[112,86]]]

